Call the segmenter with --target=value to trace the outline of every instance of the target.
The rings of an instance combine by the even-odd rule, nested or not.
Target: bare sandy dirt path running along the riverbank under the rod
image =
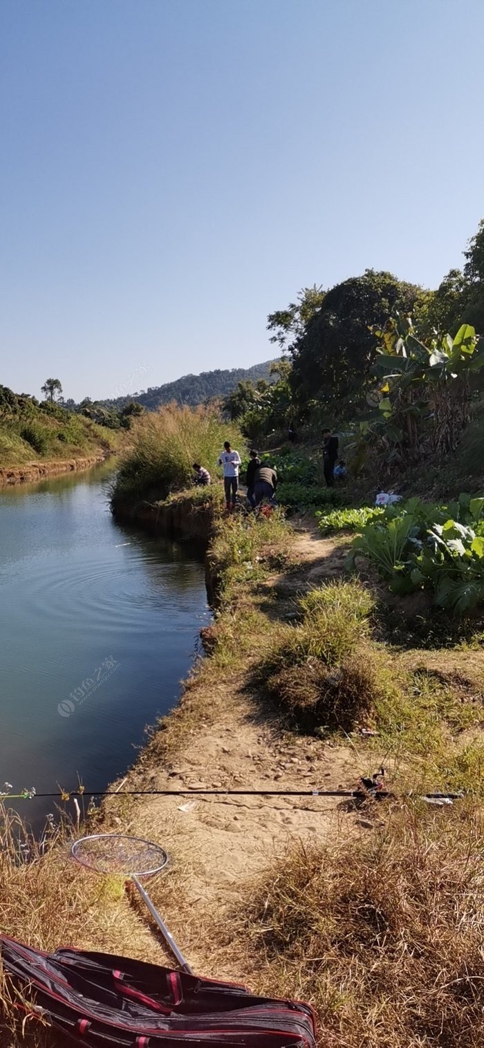
[[[281,613],[308,584],[340,563],[336,544],[304,531],[291,549],[299,562],[284,580],[269,585],[281,592]],[[279,602],[278,602],[279,604]],[[190,696],[190,692],[189,692]],[[154,748],[130,772],[131,789],[249,789],[311,791],[348,788],[356,784],[364,765],[351,740],[347,746],[284,730],[280,715],[259,695],[248,695],[246,677],[237,670],[219,683],[203,689],[204,711],[190,726],[173,760],[154,763]],[[162,735],[162,733],[161,733]],[[261,873],[291,840],[321,842],[329,835],[354,832],[357,815],[346,802],[322,796],[156,796],[110,802],[114,825],[163,844],[171,855],[171,878],[159,878],[152,889],[170,926],[198,970],[214,970],[215,944],[211,924],[219,924],[242,897],[247,881]],[[108,806],[109,813],[109,806]],[[128,815],[128,822],[127,822]],[[200,935],[200,929],[204,929]],[[232,952],[222,951],[220,977],[238,978]]]

